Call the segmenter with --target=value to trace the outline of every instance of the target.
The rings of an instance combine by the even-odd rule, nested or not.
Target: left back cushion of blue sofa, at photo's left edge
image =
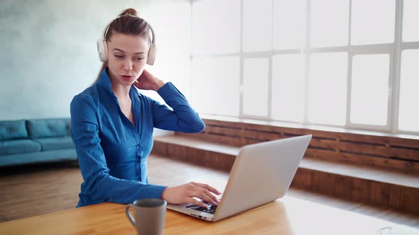
[[[9,139],[26,139],[25,120],[1,121],[0,122],[0,141]]]

